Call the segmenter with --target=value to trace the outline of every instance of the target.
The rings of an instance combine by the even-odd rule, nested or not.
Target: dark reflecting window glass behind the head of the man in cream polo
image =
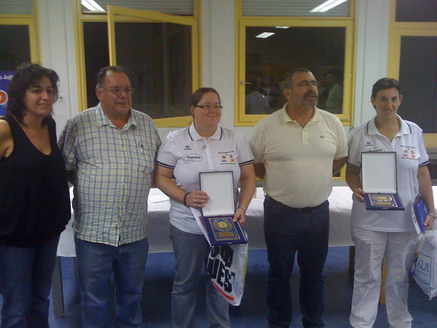
[[[345,40],[345,27],[246,27],[246,114],[282,108],[284,76],[299,67],[321,82],[317,107],[342,113]]]

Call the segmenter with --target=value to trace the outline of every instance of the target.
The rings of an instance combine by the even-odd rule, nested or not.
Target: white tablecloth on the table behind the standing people
[[[71,198],[73,191],[70,189]],[[352,246],[350,215],[352,208],[352,191],[349,187],[333,187],[329,200],[330,228],[329,246]],[[246,223],[243,229],[247,232],[248,244],[251,249],[265,248],[264,241],[264,193],[257,188],[256,197],[247,208]],[[149,252],[172,252],[169,238],[170,223],[168,212],[170,201],[161,190],[152,188],[148,198]],[[67,229],[61,233],[57,256],[74,257],[73,241],[73,211]]]

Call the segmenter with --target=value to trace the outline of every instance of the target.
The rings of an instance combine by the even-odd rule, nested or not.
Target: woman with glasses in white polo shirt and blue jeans
[[[199,190],[199,172],[233,172],[238,204],[234,221],[240,224],[244,223],[246,208],[255,192],[251,149],[241,133],[219,126],[222,108],[220,96],[213,88],[197,90],[191,97],[192,125],[170,132],[158,154],[154,184],[170,197],[171,204],[170,237],[176,262],[173,327],[194,326],[196,289],[210,249],[190,209],[204,207],[209,199]],[[209,279],[206,302],[209,325],[229,327],[228,303]]]

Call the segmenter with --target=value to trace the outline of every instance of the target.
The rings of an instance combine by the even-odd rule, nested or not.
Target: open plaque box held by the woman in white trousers
[[[404,211],[397,193],[396,153],[361,153],[366,210]]]

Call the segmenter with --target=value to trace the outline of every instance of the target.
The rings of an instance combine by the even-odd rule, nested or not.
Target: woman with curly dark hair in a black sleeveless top
[[[57,74],[17,67],[0,120],[0,293],[3,327],[48,327],[59,234],[70,219],[52,106]]]

